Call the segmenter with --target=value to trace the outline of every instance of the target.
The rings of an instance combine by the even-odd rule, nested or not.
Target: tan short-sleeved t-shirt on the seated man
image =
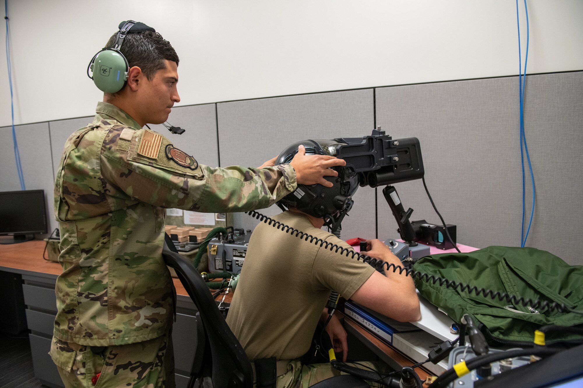
[[[273,218],[350,248],[302,214],[285,211]],[[366,263],[260,223],[249,241],[227,324],[251,361],[301,357],[331,290],[350,298],[373,272]]]

